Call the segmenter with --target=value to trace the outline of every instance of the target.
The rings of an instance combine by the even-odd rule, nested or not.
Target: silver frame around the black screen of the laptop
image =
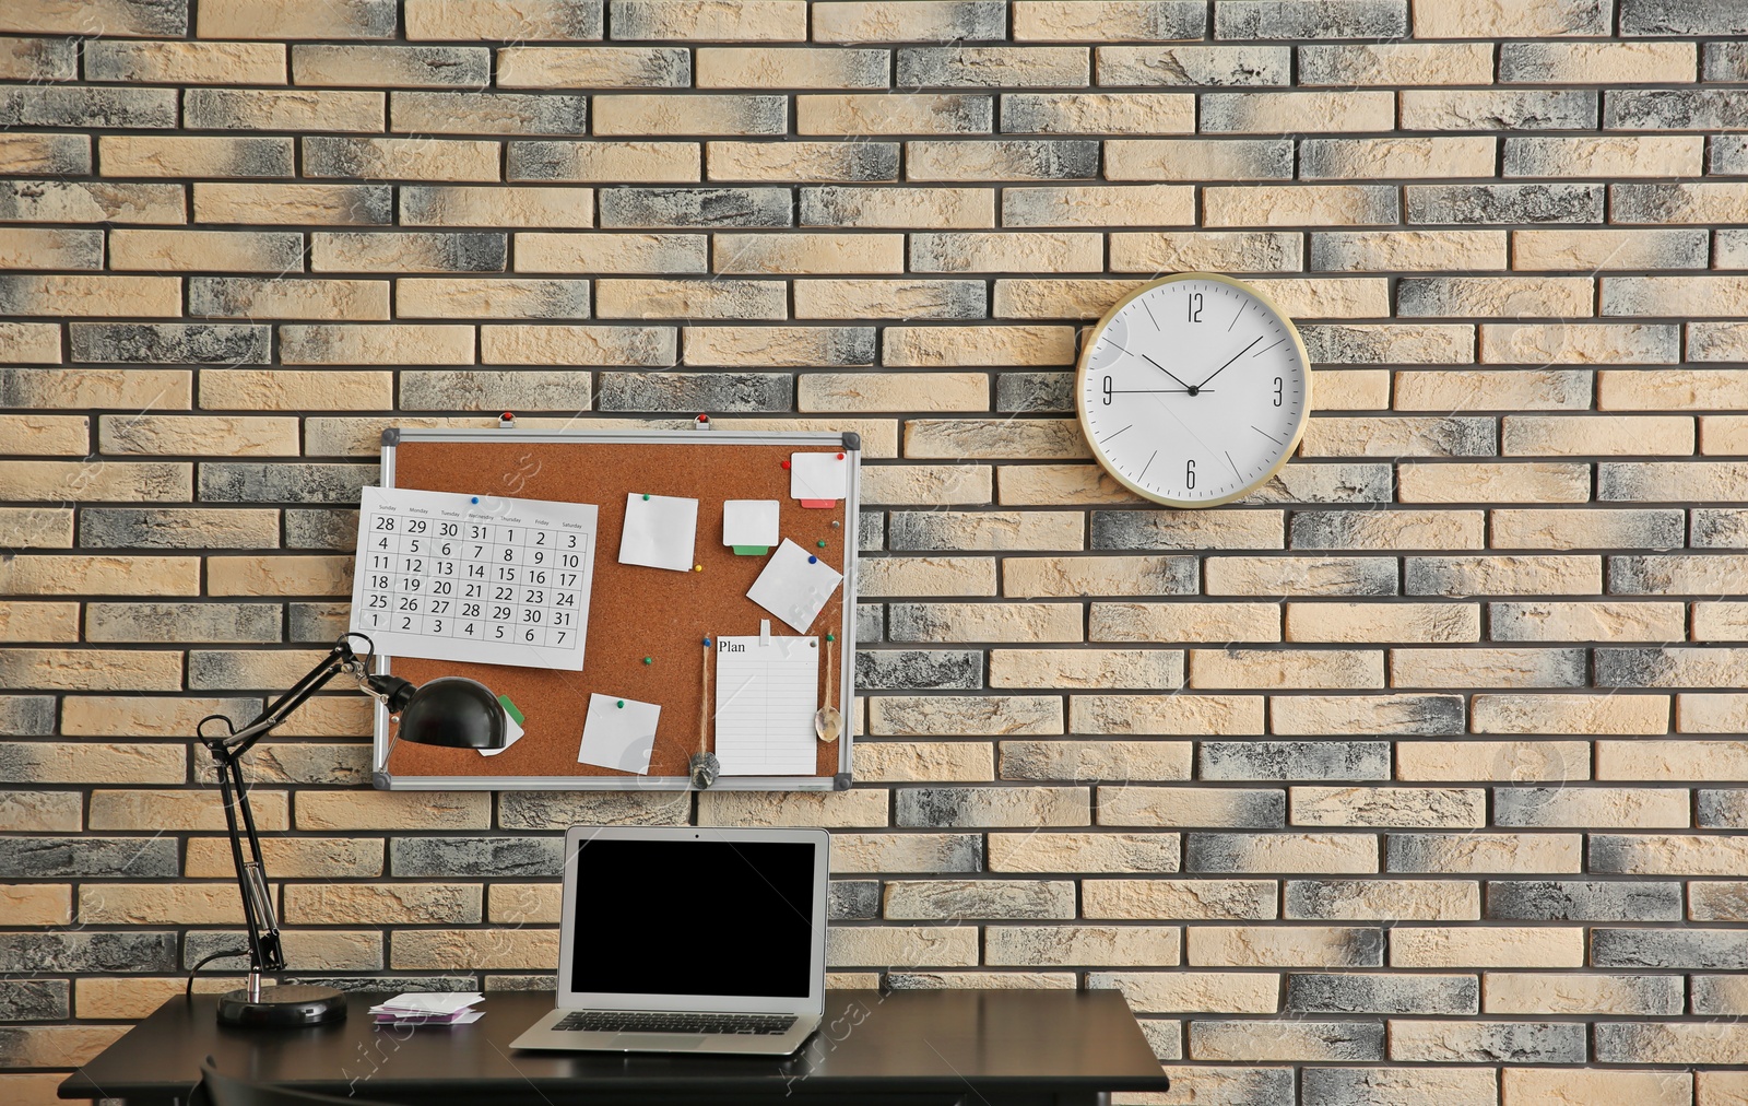
[[[813,919],[809,924],[808,996],[745,996],[745,994],[626,994],[619,990],[575,990],[572,980],[577,956],[577,854],[593,842],[671,842],[683,849],[687,842],[783,842],[813,845]],[[734,1012],[734,1013],[823,1013],[825,1012],[825,900],[830,835],[823,830],[731,830],[722,826],[573,826],[565,833],[565,891],[559,915],[558,954],[558,1006],[561,1010],[678,1010],[678,1012]],[[734,948],[720,948],[711,942],[710,915],[729,910],[732,903],[699,903],[696,950],[678,956],[696,956],[701,968],[734,971]]]

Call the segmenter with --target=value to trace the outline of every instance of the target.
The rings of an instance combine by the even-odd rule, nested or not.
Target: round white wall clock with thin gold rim
[[[1075,388],[1092,455],[1175,508],[1248,495],[1292,457],[1311,413],[1299,329],[1241,280],[1178,273],[1087,334]]]

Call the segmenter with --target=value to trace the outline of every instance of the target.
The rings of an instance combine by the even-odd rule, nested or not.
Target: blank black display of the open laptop
[[[572,989],[808,998],[808,842],[593,840],[577,850]]]

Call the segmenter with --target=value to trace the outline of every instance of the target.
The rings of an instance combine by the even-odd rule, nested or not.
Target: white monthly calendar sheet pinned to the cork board
[[[582,670],[593,504],[364,488],[351,630],[378,653]]]

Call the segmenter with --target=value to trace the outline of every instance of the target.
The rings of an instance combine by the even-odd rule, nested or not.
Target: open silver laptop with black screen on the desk
[[[558,1008],[512,1048],[788,1055],[825,1013],[823,830],[565,833]]]

